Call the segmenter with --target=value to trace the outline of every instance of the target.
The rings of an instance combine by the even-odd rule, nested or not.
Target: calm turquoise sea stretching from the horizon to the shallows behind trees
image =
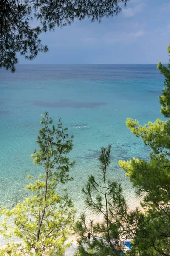
[[[111,176],[135,205],[132,185],[118,161],[147,158],[149,148],[125,122],[127,117],[141,124],[161,117],[163,81],[156,65],[18,65],[14,74],[0,70],[0,204],[12,207],[23,200],[26,175],[42,171],[30,155],[37,147],[40,114],[48,111],[74,134],[74,181],[67,187],[75,207],[82,209],[81,188],[89,174],[97,174],[99,149],[108,144],[113,148]]]

